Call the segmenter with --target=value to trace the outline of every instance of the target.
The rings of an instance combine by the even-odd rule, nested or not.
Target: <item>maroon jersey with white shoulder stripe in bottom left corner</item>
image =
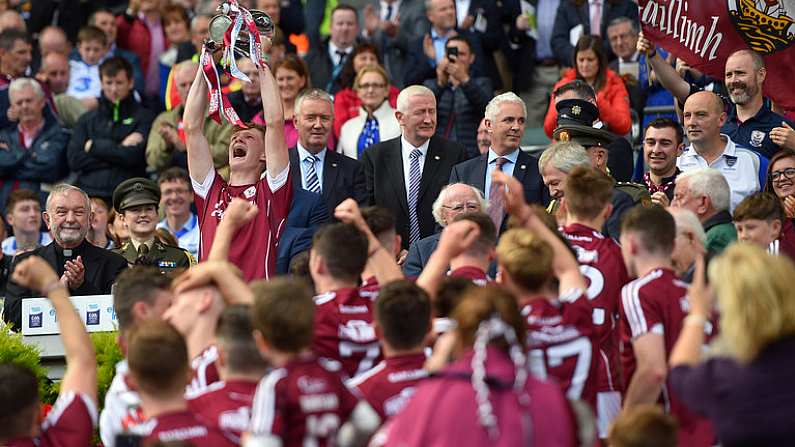
[[[71,447],[91,445],[97,423],[97,406],[85,395],[68,392],[58,396],[41,432],[34,438],[12,439],[9,447]]]

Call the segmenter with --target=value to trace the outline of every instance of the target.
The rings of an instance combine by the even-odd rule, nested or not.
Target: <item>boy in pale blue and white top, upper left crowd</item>
[[[97,108],[97,98],[102,94],[99,64],[107,52],[107,36],[95,27],[86,26],[77,33],[79,59],[69,62],[69,88],[66,94],[83,103],[87,109]]]

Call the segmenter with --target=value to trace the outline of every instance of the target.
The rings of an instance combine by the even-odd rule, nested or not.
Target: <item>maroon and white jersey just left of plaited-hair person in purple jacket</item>
[[[406,406],[414,394],[414,387],[428,377],[428,372],[423,369],[425,359],[422,353],[387,357],[347,384],[358,391],[385,421]]]

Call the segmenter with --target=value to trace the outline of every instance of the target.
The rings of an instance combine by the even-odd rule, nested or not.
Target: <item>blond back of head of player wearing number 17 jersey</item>
[[[497,262],[512,283],[537,291],[552,276],[552,247],[534,233],[517,228],[505,232],[497,244]]]

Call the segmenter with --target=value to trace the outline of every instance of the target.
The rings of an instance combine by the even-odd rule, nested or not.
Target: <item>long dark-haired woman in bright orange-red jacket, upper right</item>
[[[593,87],[596,92],[596,105],[599,107],[599,119],[607,126],[607,130],[626,135],[632,127],[632,116],[629,112],[629,93],[624,81],[613,70],[607,67],[607,58],[602,48],[602,39],[584,35],[577,41],[574,48],[574,67],[563,73],[558,87],[575,79],[581,79]],[[555,97],[549,101],[549,110],[544,118],[544,132],[552,138],[552,131],[557,127],[558,112],[555,109]]]

